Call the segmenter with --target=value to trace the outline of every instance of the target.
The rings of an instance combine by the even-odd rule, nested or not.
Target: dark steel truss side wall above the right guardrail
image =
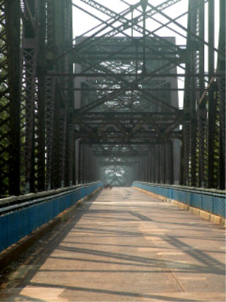
[[[196,1],[189,1],[189,32],[187,48],[190,47],[186,63],[186,72],[196,72],[200,77],[196,81],[185,77],[184,111],[189,119],[184,123],[182,145],[181,184],[224,189],[225,153],[222,137],[225,133],[225,39],[219,35],[218,69],[214,70],[214,11],[215,1],[208,1],[208,86],[204,91],[204,1],[199,1],[196,10],[192,9]],[[222,10],[225,2],[220,2],[220,33],[225,33],[225,18]],[[198,39],[196,39],[198,35]],[[192,51],[192,44],[198,44],[198,52]],[[224,58],[224,59],[222,59]],[[224,64],[222,62],[224,61]],[[220,73],[220,77],[215,77]],[[197,95],[189,87],[200,89]],[[198,101],[196,101],[198,99]],[[221,110],[222,108],[222,110]]]

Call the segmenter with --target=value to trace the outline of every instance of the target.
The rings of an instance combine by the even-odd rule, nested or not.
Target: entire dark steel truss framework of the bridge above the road
[[[108,2],[0,0],[1,196],[97,179],[225,189],[225,0]],[[99,25],[74,39],[73,10]]]

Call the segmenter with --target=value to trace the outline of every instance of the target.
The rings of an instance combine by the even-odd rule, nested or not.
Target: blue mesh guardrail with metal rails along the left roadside
[[[0,252],[102,186],[101,182],[0,200]],[[32,197],[30,196],[32,195]],[[42,198],[35,198],[44,196]],[[8,200],[7,200],[8,199]],[[21,202],[22,200],[22,202]],[[14,203],[14,204],[12,204]],[[4,206],[3,206],[4,205]]]

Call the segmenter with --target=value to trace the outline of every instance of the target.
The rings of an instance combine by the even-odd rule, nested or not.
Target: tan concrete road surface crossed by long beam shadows
[[[225,301],[225,229],[113,188],[20,255],[0,289],[0,301]]]

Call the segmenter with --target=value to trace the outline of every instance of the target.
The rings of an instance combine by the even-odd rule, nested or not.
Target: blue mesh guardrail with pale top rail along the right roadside
[[[225,191],[133,181],[132,186],[225,218]]]

